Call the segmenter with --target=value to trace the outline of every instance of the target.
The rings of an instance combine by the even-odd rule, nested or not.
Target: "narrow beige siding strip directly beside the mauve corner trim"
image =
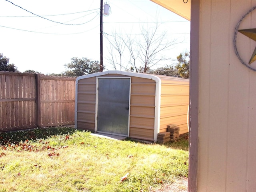
[[[206,192],[209,182],[209,138],[210,138],[210,53],[211,53],[211,2],[201,2],[199,52],[199,148],[198,148],[198,191]]]

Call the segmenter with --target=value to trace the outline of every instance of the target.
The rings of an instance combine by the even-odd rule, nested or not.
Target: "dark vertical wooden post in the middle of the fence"
[[[36,74],[36,126],[41,126],[41,92],[40,92],[40,74]]]

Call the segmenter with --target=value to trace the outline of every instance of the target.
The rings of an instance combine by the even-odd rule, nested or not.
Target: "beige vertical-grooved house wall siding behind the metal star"
[[[198,191],[256,191],[256,72],[233,45],[255,0],[200,1]],[[256,28],[256,11],[240,29]],[[241,38],[241,34],[238,34]],[[249,58],[256,44],[237,42]]]

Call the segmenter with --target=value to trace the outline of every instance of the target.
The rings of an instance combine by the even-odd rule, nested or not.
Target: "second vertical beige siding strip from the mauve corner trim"
[[[209,192],[225,191],[226,135],[228,126],[228,75],[230,53],[230,2],[211,3]],[[204,54],[204,53],[202,53]],[[208,87],[202,87],[202,89]],[[202,90],[203,92],[204,90]],[[216,156],[218,154],[218,156]],[[220,158],[222,157],[222,158]]]

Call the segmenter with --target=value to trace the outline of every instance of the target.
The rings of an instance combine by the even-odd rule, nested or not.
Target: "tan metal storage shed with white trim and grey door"
[[[157,141],[168,124],[188,132],[189,80],[124,71],[76,79],[75,128]]]

